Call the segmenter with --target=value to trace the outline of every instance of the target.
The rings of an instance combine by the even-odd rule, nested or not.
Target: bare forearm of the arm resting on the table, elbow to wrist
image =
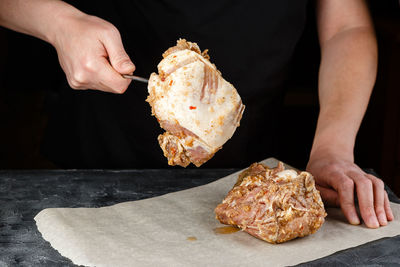
[[[321,44],[320,114],[311,156],[328,149],[353,160],[353,148],[377,70],[372,27],[337,33]]]

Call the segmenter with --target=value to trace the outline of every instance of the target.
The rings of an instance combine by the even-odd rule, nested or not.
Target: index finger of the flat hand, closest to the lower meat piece
[[[351,224],[360,224],[354,204],[354,182],[344,174],[336,174],[336,190],[339,193],[340,207]]]

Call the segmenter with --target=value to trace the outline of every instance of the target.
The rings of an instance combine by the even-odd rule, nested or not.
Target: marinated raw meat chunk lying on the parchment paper
[[[326,216],[313,176],[285,170],[281,162],[273,169],[252,164],[215,213],[221,223],[270,243],[313,234]]]

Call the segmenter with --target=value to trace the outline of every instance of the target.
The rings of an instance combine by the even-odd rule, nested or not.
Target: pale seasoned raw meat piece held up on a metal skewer
[[[207,50],[184,39],[169,48],[149,79],[152,114],[166,131],[158,142],[169,165],[197,167],[209,160],[239,126],[244,105]]]

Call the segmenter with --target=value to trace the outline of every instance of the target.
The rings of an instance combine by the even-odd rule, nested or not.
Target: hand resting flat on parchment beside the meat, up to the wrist
[[[314,175],[324,203],[327,206],[340,206],[351,224],[360,223],[355,193],[361,217],[368,227],[378,228],[393,220],[382,180],[365,173],[351,159],[343,159],[329,152],[317,152],[310,158],[307,171]]]

